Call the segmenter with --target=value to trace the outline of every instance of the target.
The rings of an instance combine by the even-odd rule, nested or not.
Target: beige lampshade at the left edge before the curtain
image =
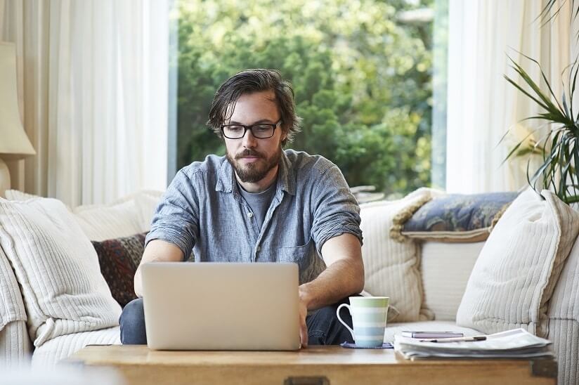
[[[36,155],[20,122],[16,92],[16,48],[0,42],[0,157],[4,160]]]

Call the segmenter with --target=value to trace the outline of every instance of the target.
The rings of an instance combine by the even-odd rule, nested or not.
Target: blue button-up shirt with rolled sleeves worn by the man
[[[324,269],[327,240],[351,233],[362,242],[360,208],[338,167],[318,155],[282,151],[271,205],[259,230],[226,157],[209,155],[178,171],[164,193],[145,244],[171,242],[195,261],[290,262],[299,283]],[[186,258],[187,259],[187,258]]]

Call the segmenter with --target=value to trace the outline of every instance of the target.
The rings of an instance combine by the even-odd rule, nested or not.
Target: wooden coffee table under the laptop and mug
[[[555,384],[552,360],[422,360],[392,349],[309,347],[295,352],[152,351],[86,346],[67,363],[114,367],[127,384]]]

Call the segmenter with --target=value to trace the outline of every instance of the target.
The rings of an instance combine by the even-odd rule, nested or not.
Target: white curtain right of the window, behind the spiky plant
[[[542,123],[517,124],[540,111],[503,78],[507,74],[523,84],[507,54],[535,81],[540,80],[538,67],[519,52],[538,60],[560,98],[561,72],[576,55],[571,1],[560,1],[554,7],[563,4],[559,15],[543,27],[536,18],[546,0],[449,1],[446,190],[518,190],[527,183],[528,158],[501,163],[517,138]],[[513,134],[499,144],[509,128]],[[531,169],[538,164],[540,158],[534,157]]]

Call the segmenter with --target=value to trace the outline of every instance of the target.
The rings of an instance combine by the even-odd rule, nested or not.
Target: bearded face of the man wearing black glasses
[[[235,103],[235,109],[225,124],[278,123],[280,112],[273,91],[247,93]],[[281,142],[285,133],[281,126],[273,131],[271,138],[255,138],[250,130],[240,139],[223,138],[227,159],[235,169],[240,181],[258,183],[269,174],[277,172],[282,153]]]

